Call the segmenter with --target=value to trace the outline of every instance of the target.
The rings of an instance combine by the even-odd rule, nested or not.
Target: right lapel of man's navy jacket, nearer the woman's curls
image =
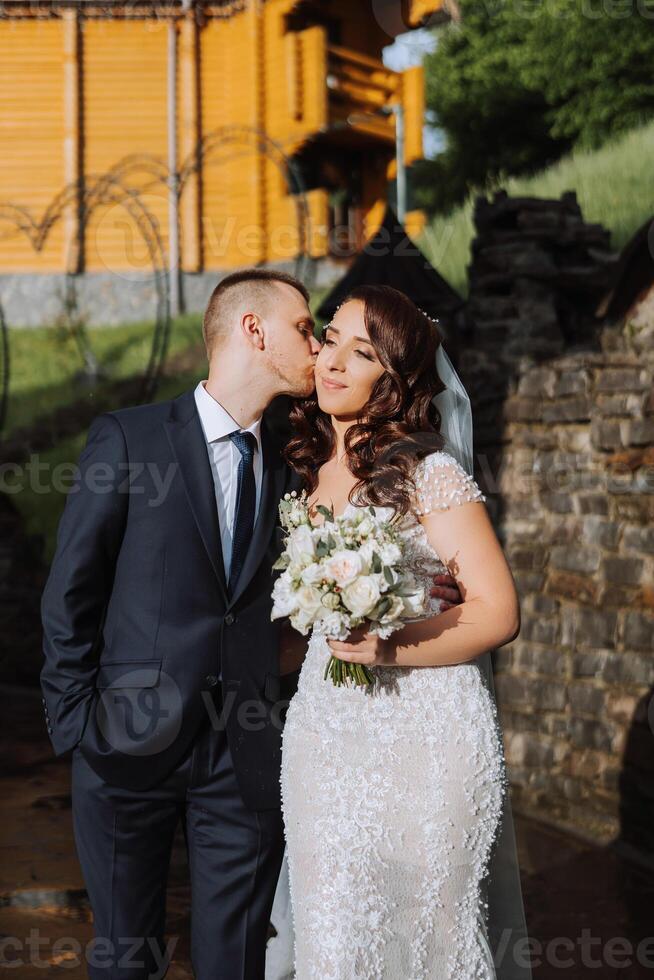
[[[252,543],[236,582],[234,594],[229,600],[230,605],[241,597],[263,560],[279,518],[279,501],[284,494],[288,477],[288,469],[281,455],[281,445],[265,415],[261,425],[261,448],[263,451],[261,501],[252,533]]]

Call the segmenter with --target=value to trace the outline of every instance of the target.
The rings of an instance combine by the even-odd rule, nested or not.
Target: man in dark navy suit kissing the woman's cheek
[[[92,978],[165,973],[180,820],[196,977],[264,976],[292,654],[270,621],[271,569],[293,487],[264,411],[313,390],[308,299],[281,272],[223,279],[203,321],[208,380],[98,416],[79,458],[42,597],[41,686],[55,753],[72,750]]]

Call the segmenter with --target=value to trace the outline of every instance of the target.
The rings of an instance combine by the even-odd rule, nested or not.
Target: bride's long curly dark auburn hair
[[[341,305],[355,299],[363,304],[368,336],[385,371],[345,434],[347,465],[357,477],[349,501],[390,506],[399,517],[409,511],[416,489],[415,464],[444,445],[432,402],[445,387],[435,362],[441,337],[436,324],[392,286],[357,286]],[[289,418],[294,434],[283,455],[311,495],[318,470],[336,448],[331,418],[320,410],[315,392],[295,401]]]

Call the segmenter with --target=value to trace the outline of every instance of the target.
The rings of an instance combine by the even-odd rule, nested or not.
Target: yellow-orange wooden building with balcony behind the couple
[[[0,274],[145,268],[138,208],[184,272],[352,254],[395,177],[389,106],[422,155],[422,69],[384,66],[389,23],[447,17],[392,2],[3,4]]]

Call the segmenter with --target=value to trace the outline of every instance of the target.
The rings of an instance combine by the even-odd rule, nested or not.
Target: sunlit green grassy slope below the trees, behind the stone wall
[[[599,150],[575,151],[532,177],[508,178],[485,191],[474,191],[461,207],[435,218],[418,244],[432,264],[462,296],[468,294],[467,267],[475,236],[472,223],[478,193],[503,188],[509,196],[560,198],[575,191],[585,221],[611,232],[611,248],[620,251],[654,213],[654,123],[631,130]]]

